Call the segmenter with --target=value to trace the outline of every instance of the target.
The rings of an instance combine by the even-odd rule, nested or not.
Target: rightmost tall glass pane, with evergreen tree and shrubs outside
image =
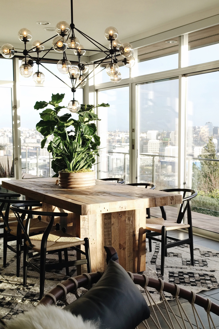
[[[198,191],[195,226],[219,232],[219,71],[187,78],[186,186]]]

